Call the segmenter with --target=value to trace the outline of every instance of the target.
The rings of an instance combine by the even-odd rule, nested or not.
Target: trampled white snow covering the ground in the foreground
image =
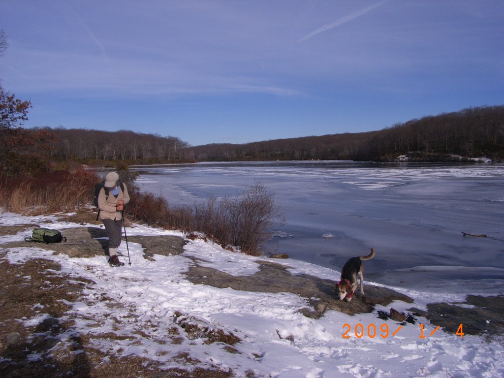
[[[19,224],[47,224],[58,229],[82,226],[56,221],[53,216],[0,214],[1,226]],[[8,241],[22,240],[29,229],[27,227],[16,235],[0,236],[0,247]],[[132,225],[127,231],[129,236],[181,236],[178,232],[142,225]],[[129,249],[132,265],[122,268],[110,267],[102,256],[70,259],[66,255],[52,255],[44,249],[24,247],[9,249],[7,254],[9,261],[15,264],[40,257],[54,260],[61,264],[61,273],[94,281],[95,285],[84,290],[84,298],[71,303],[73,314],[78,316],[75,327],[82,334],[127,336],[123,340],[94,339],[100,350],[120,356],[148,357],[169,367],[174,366],[173,356],[186,352],[204,366],[231,368],[238,377],[504,376],[504,347],[501,344],[490,344],[476,336],[459,337],[440,329],[436,331],[436,325],[423,318],[418,318],[416,325],[408,324],[400,329],[396,322],[378,319],[376,313],[348,316],[328,311],[321,319],[313,320],[297,312],[307,303],[304,298],[291,293],[244,292],[189,282],[183,273],[194,264],[190,257],[198,257],[208,266],[233,275],[251,275],[257,271],[256,258],[223,250],[213,243],[191,241],[182,255],[155,255],[155,261],[142,257],[139,244],[130,242]],[[124,243],[120,250],[126,255]],[[292,267],[292,274],[339,279],[338,271],[308,262],[293,259],[275,262]],[[463,294],[447,293],[442,289],[436,290],[435,294],[405,287],[398,290],[415,299],[414,304],[393,303],[392,306],[399,311],[411,306],[422,309],[429,301],[464,299]],[[116,298],[124,306],[111,310],[99,300],[101,293]],[[238,353],[230,353],[220,343],[205,344],[201,339],[184,340],[180,344],[168,342],[172,336],[169,329],[173,327],[177,311],[239,337],[242,341],[234,345]],[[36,325],[47,316],[43,309],[41,312],[37,319],[19,321]],[[114,328],[113,317],[125,325]],[[420,324],[423,324],[425,338],[420,338]],[[346,336],[349,338],[344,337],[345,331],[348,331]],[[393,335],[395,331],[397,333]]]

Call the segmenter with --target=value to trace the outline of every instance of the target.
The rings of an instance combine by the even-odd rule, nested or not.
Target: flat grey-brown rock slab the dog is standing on
[[[230,287],[242,291],[259,291],[269,293],[291,292],[305,297],[315,310],[306,307],[301,310],[304,316],[318,319],[328,309],[341,311],[349,315],[359,312],[371,312],[376,304],[386,306],[394,300],[412,303],[413,299],[384,287],[366,285],[365,296],[360,292],[354,295],[350,303],[339,300],[334,293],[334,281],[324,280],[307,274],[292,275],[289,267],[268,261],[256,261],[260,271],[251,276],[232,276],[213,268],[199,265],[192,266],[187,279],[196,284],[210,285],[219,288]],[[198,263],[198,261],[196,261]]]

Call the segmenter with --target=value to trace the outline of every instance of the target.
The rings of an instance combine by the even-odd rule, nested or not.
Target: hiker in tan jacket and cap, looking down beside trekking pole
[[[98,194],[98,209],[108,236],[108,255],[110,257],[108,263],[121,267],[124,263],[120,262],[117,257],[117,248],[121,244],[122,211],[124,205],[130,202],[130,196],[126,185],[119,181],[117,172],[108,172],[103,186]]]

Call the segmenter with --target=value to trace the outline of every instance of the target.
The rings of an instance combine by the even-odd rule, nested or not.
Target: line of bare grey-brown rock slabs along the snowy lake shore
[[[25,226],[20,225],[20,227]],[[33,243],[33,246],[53,250],[55,254],[64,253],[70,258],[91,258],[106,254],[106,241],[101,239],[105,236],[103,228],[86,226],[61,231],[68,238],[67,242]],[[163,235],[132,235],[128,237],[128,240],[141,244],[144,248],[144,258],[151,261],[155,261],[155,255],[170,256],[183,253],[183,246],[188,242],[182,237]],[[3,244],[2,247],[27,247],[27,242],[10,242]],[[195,284],[218,288],[230,287],[242,291],[294,293],[308,300],[312,308],[303,308],[301,312],[313,319],[324,316],[328,310],[354,315],[372,312],[376,305],[387,307],[395,300],[414,302],[414,298],[407,295],[370,284],[365,285],[365,296],[356,292],[350,303],[341,301],[334,294],[334,282],[310,275],[292,275],[287,265],[275,263],[272,259],[258,258],[256,262],[260,265],[260,271],[250,276],[229,275],[214,268],[203,267],[195,258],[192,260],[194,264],[186,273],[186,277]],[[394,312],[392,307],[390,310]],[[404,318],[399,317],[398,321],[408,316],[409,319],[412,319],[412,316],[425,317],[432,324],[453,333],[457,332],[458,326],[463,323],[464,332],[467,334],[493,337],[504,333],[502,310],[504,310],[504,296],[502,295],[493,297],[468,295],[465,303],[431,303],[427,306],[427,310],[419,310],[413,306],[409,309],[411,312],[402,314]]]

